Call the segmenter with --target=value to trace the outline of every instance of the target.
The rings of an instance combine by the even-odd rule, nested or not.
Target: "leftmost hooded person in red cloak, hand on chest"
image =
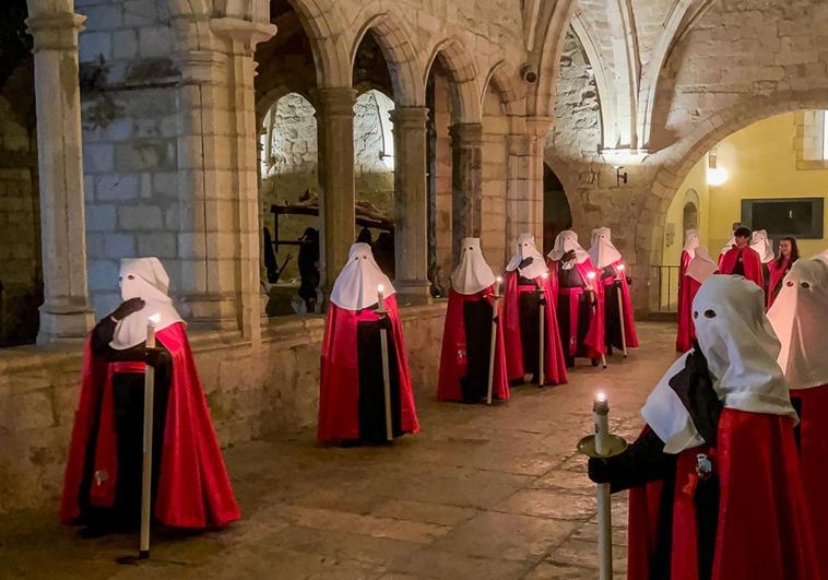
[[[155,367],[153,514],[177,528],[218,528],[239,509],[210,419],[185,323],[156,258],[121,261],[125,300],[84,346],[81,399],[60,507],[83,533],[138,528],[145,364]],[[145,347],[154,322],[157,350]]]

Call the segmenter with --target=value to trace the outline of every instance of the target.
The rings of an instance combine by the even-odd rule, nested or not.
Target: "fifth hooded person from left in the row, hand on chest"
[[[567,366],[573,366],[576,357],[596,366],[606,352],[604,285],[590,255],[578,244],[578,234],[570,229],[558,234],[547,258]]]

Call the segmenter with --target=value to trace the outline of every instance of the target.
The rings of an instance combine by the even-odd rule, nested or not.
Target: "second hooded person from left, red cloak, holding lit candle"
[[[378,315],[379,294],[387,312]],[[354,244],[331,291],[319,386],[320,442],[386,441],[380,332],[388,336],[393,437],[419,430],[397,291],[367,244]]]

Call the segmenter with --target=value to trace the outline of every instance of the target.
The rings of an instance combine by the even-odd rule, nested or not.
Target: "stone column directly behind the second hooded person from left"
[[[320,88],[317,109],[319,186],[322,189],[322,288],[326,298],[347,261],[354,233],[354,103],[351,87]]]

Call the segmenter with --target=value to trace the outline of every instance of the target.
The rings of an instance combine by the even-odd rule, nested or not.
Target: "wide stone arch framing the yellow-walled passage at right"
[[[649,216],[642,216],[642,225],[650,228],[650,251],[642,252],[649,255],[649,263],[655,264],[661,260],[663,224],[673,198],[690,169],[713,145],[736,131],[774,115],[827,108],[828,93],[825,90],[784,91],[747,97],[712,113],[703,121],[695,123],[694,129],[673,146],[653,155],[652,161],[659,164],[650,188],[655,200],[646,202],[646,208],[652,208],[652,212],[648,212]]]

